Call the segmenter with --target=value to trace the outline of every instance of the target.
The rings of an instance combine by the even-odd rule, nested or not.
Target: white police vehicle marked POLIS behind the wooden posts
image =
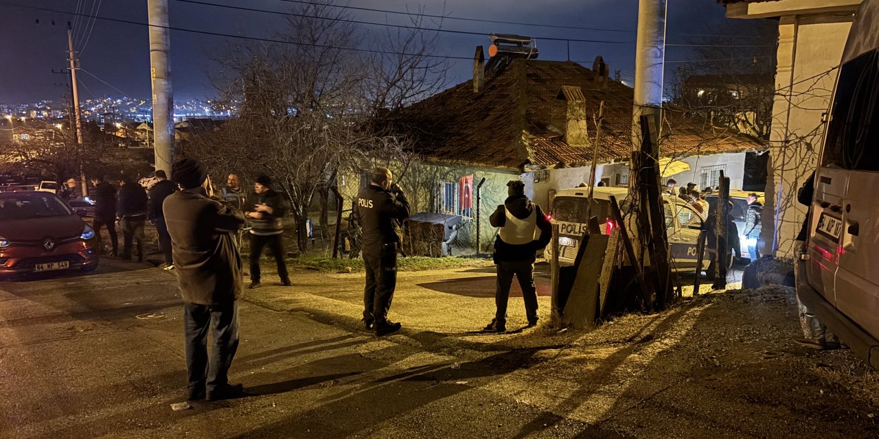
[[[573,265],[577,257],[579,240],[588,230],[586,224],[587,188],[564,189],[556,193],[553,199],[550,217],[559,228],[559,255],[561,265]],[[610,196],[613,195],[625,212],[624,199],[628,197],[628,188],[596,187],[592,193],[592,209],[590,215],[598,217],[602,234],[610,234],[617,227],[610,212]],[[665,211],[665,227],[668,234],[672,255],[672,270],[694,270],[697,262],[696,248],[705,216],[696,212],[694,207],[685,200],[670,194],[663,195]],[[706,212],[708,213],[708,212]],[[552,245],[547,247],[544,257],[552,257]],[[730,255],[733,251],[730,248]],[[708,268],[713,252],[706,248],[702,266]],[[732,259],[730,257],[730,263]]]

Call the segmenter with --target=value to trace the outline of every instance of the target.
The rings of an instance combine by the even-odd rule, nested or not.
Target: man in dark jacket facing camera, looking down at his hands
[[[287,212],[287,203],[280,193],[272,191],[272,179],[266,175],[257,177],[253,184],[253,193],[247,201],[245,215],[251,221],[251,285],[248,288],[258,288],[259,256],[263,248],[268,246],[269,251],[278,265],[280,284],[292,285],[290,276],[287,274],[287,263],[284,260],[284,213]]]

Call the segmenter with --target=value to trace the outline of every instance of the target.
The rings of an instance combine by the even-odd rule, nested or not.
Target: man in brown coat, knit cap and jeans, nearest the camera
[[[171,234],[175,273],[184,301],[188,399],[228,399],[243,392],[229,385],[229,366],[238,348],[238,306],[243,293],[241,255],[233,235],[243,226],[241,211],[213,197],[207,170],[181,159],[171,176],[182,191],[163,203]],[[214,347],[207,358],[207,332]]]

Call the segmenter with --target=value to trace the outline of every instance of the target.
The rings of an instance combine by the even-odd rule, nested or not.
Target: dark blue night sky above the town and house
[[[203,0],[206,3],[233,4],[272,11],[289,11],[291,4],[282,0]],[[40,99],[58,99],[66,93],[66,78],[52,69],[66,67],[67,22],[69,14],[33,11],[10,4],[26,4],[58,11],[75,11],[77,3],[88,13],[97,11],[101,17],[120,18],[146,23],[146,0],[2,0],[0,14],[0,103],[14,104]],[[98,11],[99,4],[99,11]],[[585,61],[591,67],[595,55],[602,55],[612,70],[621,69],[624,80],[630,80],[635,68],[637,4],[636,0],[350,0],[337,2],[389,11],[417,11],[424,5],[426,13],[452,17],[484,18],[500,21],[552,25],[597,27],[625,32],[585,31],[526,25],[501,25],[447,19],[444,29],[484,32],[479,35],[444,33],[438,54],[472,57],[474,47],[488,47],[489,32],[519,33],[535,37],[572,38],[580,40],[627,41],[632,44],[570,43],[570,59]],[[258,12],[233,11],[202,4],[185,4],[170,0],[171,26],[208,32],[271,37],[283,28],[284,18]],[[373,11],[349,10],[351,18],[363,21],[408,24],[404,16]],[[730,34],[730,21],[723,18],[723,7],[716,0],[669,0],[668,43],[687,42],[686,33]],[[39,19],[39,24],[36,21]],[[54,20],[54,25],[52,25]],[[88,32],[87,18],[76,18],[75,35],[81,53],[80,94],[82,98],[104,95],[149,97],[149,43],[147,27],[96,20]],[[380,26],[363,26],[363,32],[381,31]],[[87,40],[87,42],[86,42]],[[216,95],[208,79],[215,68],[211,56],[224,42],[222,37],[171,32],[171,70],[176,99],[209,98]],[[235,41],[235,40],[232,40]],[[240,41],[240,40],[239,40]],[[735,43],[718,37],[716,44]],[[537,40],[541,60],[567,59],[564,41]],[[666,61],[685,61],[693,57],[687,47],[669,47]],[[669,70],[678,65],[670,62]],[[453,83],[460,83],[472,74],[472,62],[451,61]],[[91,75],[90,75],[91,74]],[[97,78],[96,78],[97,77]],[[99,78],[99,79],[98,79]],[[103,80],[105,83],[102,83]],[[110,85],[107,85],[110,84]],[[114,90],[113,87],[119,90]],[[121,92],[120,92],[121,91]]]

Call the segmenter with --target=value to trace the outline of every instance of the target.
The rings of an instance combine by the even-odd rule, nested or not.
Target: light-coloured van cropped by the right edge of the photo
[[[797,294],[879,368],[879,0],[855,15],[818,159]]]

